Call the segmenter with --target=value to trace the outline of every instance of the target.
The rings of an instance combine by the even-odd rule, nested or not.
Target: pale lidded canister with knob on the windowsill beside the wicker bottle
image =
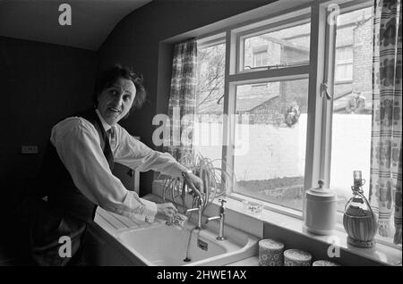
[[[304,210],[304,228],[317,235],[331,235],[336,225],[337,196],[329,188],[324,188],[324,181],[318,181],[319,188],[306,191]]]

